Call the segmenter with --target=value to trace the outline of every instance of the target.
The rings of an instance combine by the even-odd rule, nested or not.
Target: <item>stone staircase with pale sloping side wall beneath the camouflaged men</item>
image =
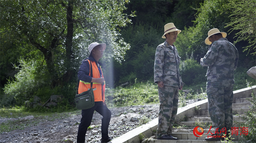
[[[256,86],[252,88],[244,88],[241,90],[234,91],[233,98],[233,127],[239,127],[238,123],[245,122],[242,116],[245,116],[245,112],[249,111],[252,107],[247,98],[252,99],[251,92],[256,93]],[[140,134],[145,135],[146,137],[151,137],[155,135],[157,129],[158,118],[149,122],[149,124],[142,125],[132,131],[123,134],[122,136],[112,140],[112,143],[139,143]],[[181,107],[178,109],[176,116],[176,124],[183,126],[182,128],[174,128],[172,131],[172,136],[177,137],[179,140],[153,140],[154,143],[208,143],[205,141],[205,138],[208,135],[211,135],[209,132],[210,126],[212,125],[211,119],[208,113],[208,99],[198,101],[196,103]],[[204,130],[204,134],[201,137],[196,137],[193,134],[193,129],[195,127],[201,127]],[[239,127],[240,128],[240,127]],[[201,132],[201,129],[198,128],[198,131]],[[212,127],[210,130],[214,133],[215,129]],[[238,135],[231,136],[232,141],[237,142],[241,139],[240,132]],[[220,143],[221,141],[210,141],[209,143]]]

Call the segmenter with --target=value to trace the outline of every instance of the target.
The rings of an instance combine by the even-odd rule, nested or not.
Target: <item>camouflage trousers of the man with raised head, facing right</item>
[[[177,115],[179,88],[175,86],[158,87],[159,94],[159,114],[157,137],[162,137],[172,133],[172,125]]]

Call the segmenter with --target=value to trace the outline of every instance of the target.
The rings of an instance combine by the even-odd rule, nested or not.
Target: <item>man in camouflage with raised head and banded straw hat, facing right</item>
[[[164,43],[156,48],[154,82],[158,84],[159,115],[157,139],[177,140],[172,137],[172,125],[177,115],[179,90],[182,90],[180,57],[173,43],[181,32],[173,23],[164,26]]]

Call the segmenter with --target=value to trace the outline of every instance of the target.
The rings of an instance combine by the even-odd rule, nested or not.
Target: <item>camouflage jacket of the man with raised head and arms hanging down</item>
[[[180,56],[176,47],[166,42],[156,48],[154,65],[154,82],[164,82],[164,85],[183,86],[180,76]]]

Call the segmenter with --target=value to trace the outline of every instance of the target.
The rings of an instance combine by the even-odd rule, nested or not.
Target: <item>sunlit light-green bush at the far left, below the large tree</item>
[[[50,82],[47,80],[49,74],[42,63],[20,60],[20,65],[15,68],[19,72],[15,75],[15,81],[9,80],[5,85],[1,106],[8,107],[14,104],[21,106],[33,97],[35,91]]]

